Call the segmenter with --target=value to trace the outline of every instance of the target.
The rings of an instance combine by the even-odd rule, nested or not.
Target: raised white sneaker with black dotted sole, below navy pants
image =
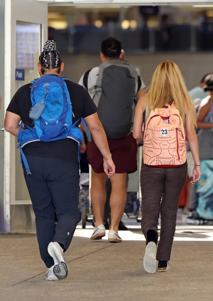
[[[48,245],[48,253],[54,260],[53,273],[58,279],[64,279],[68,275],[68,267],[63,257],[63,249],[57,242],[51,242]]]

